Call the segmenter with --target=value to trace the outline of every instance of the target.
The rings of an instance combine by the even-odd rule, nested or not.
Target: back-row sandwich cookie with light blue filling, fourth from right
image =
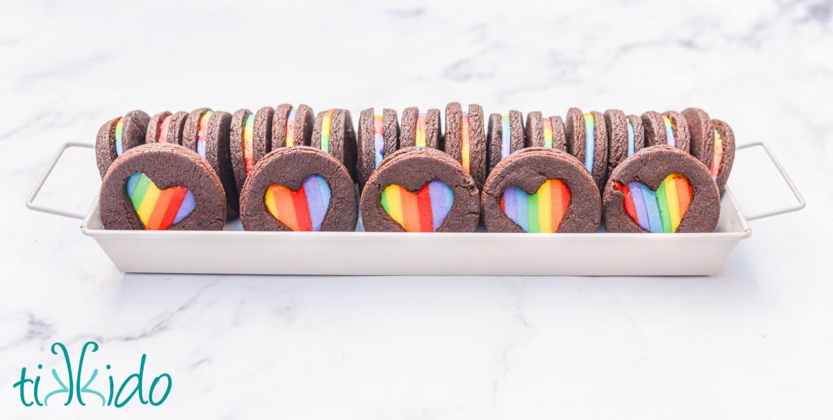
[[[582,113],[578,108],[567,111],[567,151],[584,162],[599,190],[605,185],[607,173],[607,125],[601,113]]]

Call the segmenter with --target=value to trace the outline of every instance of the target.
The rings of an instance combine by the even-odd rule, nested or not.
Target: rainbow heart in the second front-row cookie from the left
[[[272,184],[263,200],[269,213],[290,230],[318,232],[330,208],[330,185],[322,175],[309,175],[297,190]]]

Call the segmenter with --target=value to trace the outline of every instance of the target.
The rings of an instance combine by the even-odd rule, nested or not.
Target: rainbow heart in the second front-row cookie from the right
[[[570,187],[562,180],[546,180],[535,194],[514,185],[501,196],[501,210],[525,232],[553,233],[570,207]]]

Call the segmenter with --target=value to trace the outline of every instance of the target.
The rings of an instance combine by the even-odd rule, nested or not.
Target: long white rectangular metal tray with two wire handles
[[[745,216],[726,188],[713,233],[496,234],[363,232],[247,232],[239,221],[222,231],[105,230],[97,202],[87,215],[33,203],[67,143],[27,200],[32,210],[83,220],[116,265],[131,273],[202,274],[454,274],[454,275],[709,275],[751,235],[747,220],[800,210],[804,199],[766,144],[798,201],[791,207]],[[661,258],[646,259],[647,255]]]

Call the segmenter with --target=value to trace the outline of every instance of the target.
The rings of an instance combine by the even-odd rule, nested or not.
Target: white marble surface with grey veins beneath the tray
[[[830,418],[831,30],[829,1],[0,2],[0,418]],[[23,206],[112,116],[301,101],[701,106],[809,204],[677,279],[122,274]],[[752,182],[766,167],[741,199],[781,189]],[[86,210],[92,154],[59,170],[42,203]],[[122,378],[147,353],[167,402],[23,407],[20,369],[52,381],[51,344],[87,340]]]

